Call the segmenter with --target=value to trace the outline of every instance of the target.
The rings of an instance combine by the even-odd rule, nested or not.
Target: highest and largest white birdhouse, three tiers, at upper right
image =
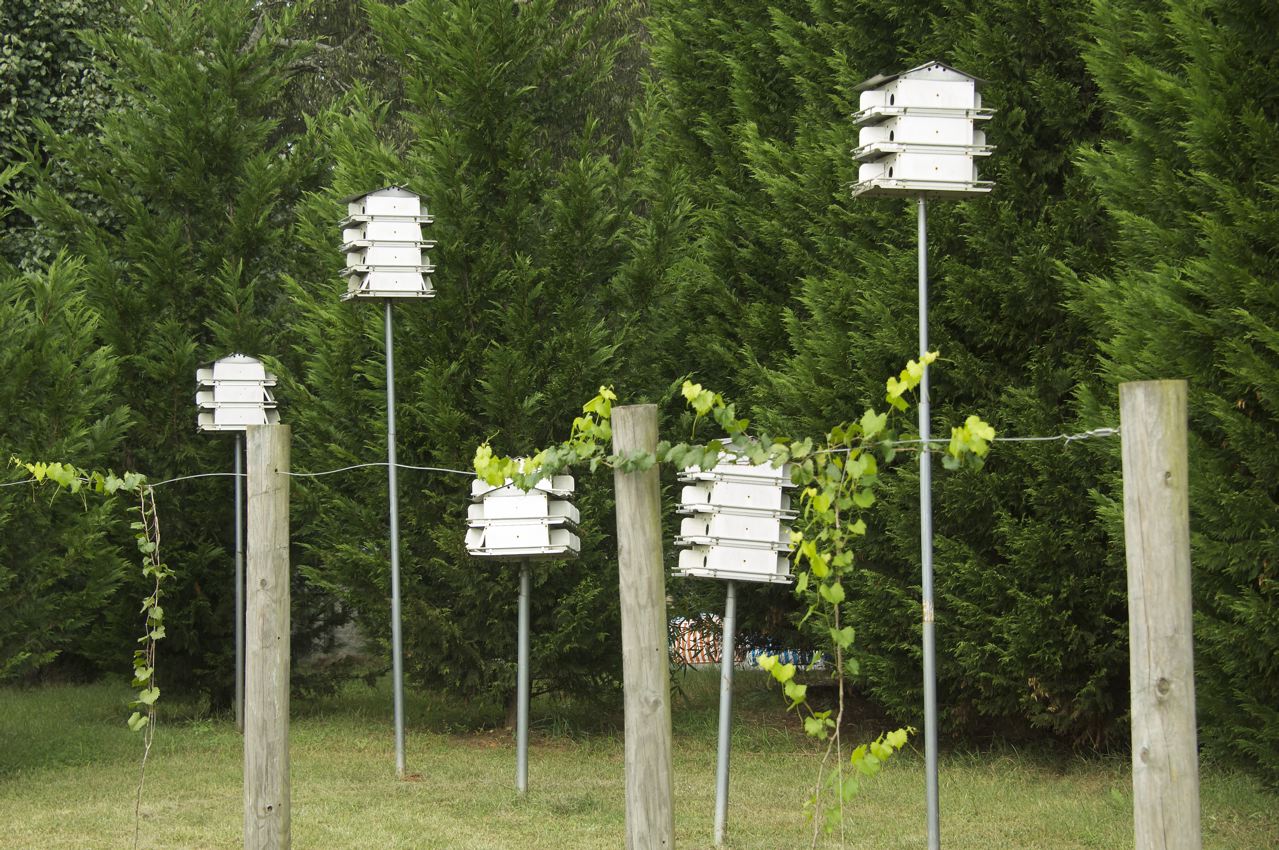
[[[994,183],[977,175],[976,158],[990,156],[977,121],[994,110],[981,105],[981,81],[934,61],[858,86],[861,127],[853,158],[861,165],[853,194],[985,194]]]

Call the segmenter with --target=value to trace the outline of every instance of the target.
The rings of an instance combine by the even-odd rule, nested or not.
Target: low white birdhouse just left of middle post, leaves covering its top
[[[476,479],[467,511],[467,551],[478,557],[573,557],[581,548],[572,475],[544,478],[528,491],[510,479],[492,487]]]

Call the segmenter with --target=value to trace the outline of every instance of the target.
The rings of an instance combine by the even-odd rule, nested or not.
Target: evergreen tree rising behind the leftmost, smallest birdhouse
[[[194,431],[196,368],[279,350],[290,205],[315,169],[279,133],[281,92],[307,50],[289,36],[295,14],[253,0],[128,3],[90,41],[119,106],[96,137],[50,127],[41,139],[88,196],[68,196],[45,170],[23,208],[46,244],[84,257],[98,341],[119,358],[116,391],[134,414],[109,458],[116,469],[153,481],[229,472],[230,441]],[[166,681],[198,683],[221,704],[233,681],[231,484],[184,482],[160,498],[178,571]],[[130,631],[134,598],[120,602]]]

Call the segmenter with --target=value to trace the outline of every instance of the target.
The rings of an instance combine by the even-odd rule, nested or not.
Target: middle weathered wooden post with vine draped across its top
[[[657,408],[613,409],[613,451],[656,451]],[[675,846],[670,767],[670,660],[657,467],[613,477],[618,501],[627,850]]]

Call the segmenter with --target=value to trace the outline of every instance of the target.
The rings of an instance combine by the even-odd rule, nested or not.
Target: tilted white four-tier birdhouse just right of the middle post
[[[738,582],[790,582],[789,467],[726,460],[710,472],[686,469],[675,575]]]

